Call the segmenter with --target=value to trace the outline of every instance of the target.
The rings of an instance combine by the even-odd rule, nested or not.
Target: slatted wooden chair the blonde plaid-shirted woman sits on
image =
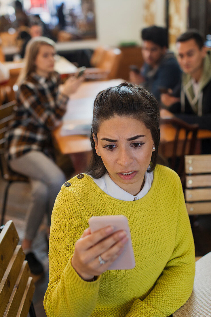
[[[8,130],[8,124],[13,117],[12,110],[15,103],[16,103],[15,101],[11,101],[11,102],[8,102],[7,104],[0,106],[0,172],[1,172],[2,178],[7,182],[4,195],[3,195],[2,214],[1,214],[0,224],[4,223],[4,214],[6,210],[7,196],[8,196],[10,185],[13,182],[17,182],[17,181],[28,182],[28,178],[10,170],[4,157],[4,148],[3,148],[4,142],[5,142],[4,134]]]

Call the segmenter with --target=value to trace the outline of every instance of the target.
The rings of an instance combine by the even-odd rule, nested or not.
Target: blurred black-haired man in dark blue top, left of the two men
[[[130,71],[130,81],[147,88],[159,101],[161,90],[175,87],[181,71],[174,54],[168,51],[166,28],[150,26],[142,30],[141,37],[144,65],[139,73]]]

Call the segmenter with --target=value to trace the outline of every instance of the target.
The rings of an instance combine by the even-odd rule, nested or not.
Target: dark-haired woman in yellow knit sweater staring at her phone
[[[178,175],[156,165],[156,99],[128,83],[94,101],[87,174],[65,183],[54,204],[49,247],[48,317],[164,317],[189,298],[194,242]],[[108,270],[128,237],[112,226],[94,233],[92,216],[128,218],[135,268]]]

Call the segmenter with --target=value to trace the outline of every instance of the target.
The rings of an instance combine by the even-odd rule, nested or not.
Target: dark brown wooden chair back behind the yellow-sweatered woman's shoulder
[[[160,124],[170,124],[176,128],[169,167],[179,174],[184,185],[184,155],[195,154],[199,126],[198,124],[188,124],[176,117],[161,119]]]

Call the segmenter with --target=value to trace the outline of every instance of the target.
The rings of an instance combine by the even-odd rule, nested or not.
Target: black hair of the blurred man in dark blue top
[[[141,31],[143,41],[151,41],[160,47],[168,47],[168,31],[161,26],[152,25]]]

